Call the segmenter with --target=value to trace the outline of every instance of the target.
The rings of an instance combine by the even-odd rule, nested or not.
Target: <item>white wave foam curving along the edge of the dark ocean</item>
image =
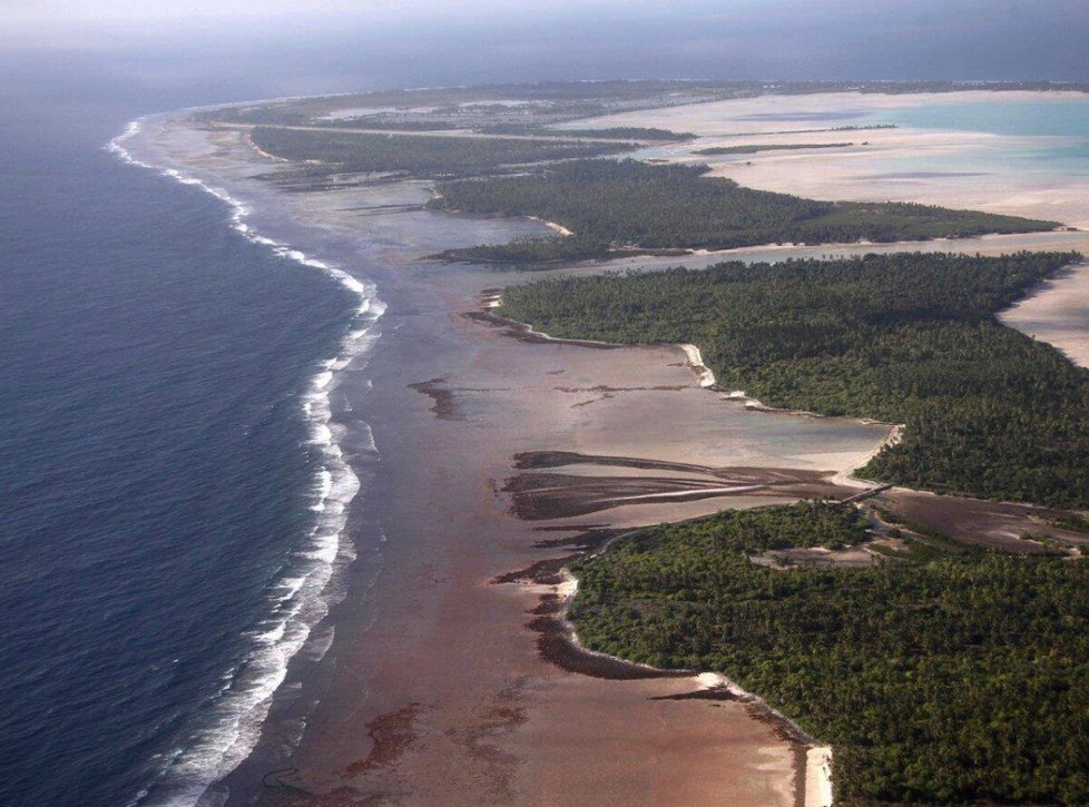
[[[344,530],[349,504],[360,490],[360,480],[341,450],[339,440],[344,430],[332,422],[330,392],[336,386],[337,374],[365,354],[377,338],[374,325],[385,313],[385,304],[377,298],[374,284],[256,233],[245,222],[249,208],[227,190],[175,168],[160,169],[134,157],[124,144],[143,131],[144,120],[130,122],[106,149],[128,165],[159,170],[163,176],[198,187],[224,201],[230,207],[230,226],[236,232],[284,259],[323,272],[360,301],[337,355],[318,363],[301,401],[310,424],[308,443],[321,453],[321,468],[313,484],[314,500],[310,505],[315,513],[313,526],[293,552],[287,575],[268,592],[271,612],[248,632],[248,653],[224,673],[223,686],[207,713],[197,716],[199,725],[190,727],[174,750],[151,760],[156,780],[131,801],[133,805],[195,805],[215,800],[208,787],[253,750],[273,693],[287,675],[288,662],[307,644],[313,628],[328,612],[330,598],[334,596],[331,585],[334,572],[355,558],[355,549]],[[365,424],[364,429],[365,442],[373,452],[370,429]],[[331,639],[331,631],[314,637],[323,646],[317,648],[318,656],[327,650]]]

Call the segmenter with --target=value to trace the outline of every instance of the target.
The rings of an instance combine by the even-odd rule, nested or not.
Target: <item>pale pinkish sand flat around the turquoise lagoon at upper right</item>
[[[862,129],[804,132],[859,125],[882,110],[915,106],[999,104],[1011,100],[1070,101],[1077,92],[950,92],[871,95],[832,92],[812,96],[763,96],[670,109],[625,112],[581,125],[657,126],[691,131],[689,144],[663,146],[644,154],[681,163],[707,163],[717,176],[743,185],[822,199],[919,201],[1059,220],[1089,228],[1089,185],[1033,165],[1010,166],[1011,146],[1049,146],[1069,138],[1022,138],[974,131],[933,129]],[[778,134],[794,131],[795,134]],[[714,146],[752,144],[843,142],[850,148],[767,151],[753,155],[700,156]],[[863,145],[866,144],[866,145]],[[959,158],[971,155],[968,167]],[[990,161],[988,155],[992,156]],[[918,159],[930,165],[920,171]],[[911,168],[905,166],[912,166]]]

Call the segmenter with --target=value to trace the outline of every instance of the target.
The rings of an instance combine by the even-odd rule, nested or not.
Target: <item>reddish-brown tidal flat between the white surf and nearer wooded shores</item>
[[[745,703],[673,699],[702,689],[693,673],[632,677],[622,663],[561,658],[570,646],[549,634],[558,587],[548,574],[572,553],[561,543],[586,548],[635,525],[793,499],[792,486],[820,486],[832,471],[729,470],[756,454],[742,441],[729,453],[728,415],[767,415],[700,390],[679,348],[528,344],[455,316],[414,316],[404,327],[441,334],[428,342],[444,347],[415,360],[420,382],[375,390],[380,407],[398,412],[399,436],[377,618],[353,637],[340,614],[328,690],[287,771],[254,795],[267,804],[795,804],[804,747]],[[571,380],[624,392],[575,406],[593,393],[570,392]],[[713,456],[697,444],[715,432],[716,414],[723,442]],[[864,446],[883,432],[851,434]],[[568,483],[593,495],[573,508],[538,504],[527,520],[504,488],[542,473],[532,465],[581,469]],[[639,498],[678,485],[713,492]],[[745,491],[714,492],[735,486]],[[616,496],[630,501],[602,506]],[[536,583],[503,578],[534,564]],[[228,784],[247,776],[244,765]]]

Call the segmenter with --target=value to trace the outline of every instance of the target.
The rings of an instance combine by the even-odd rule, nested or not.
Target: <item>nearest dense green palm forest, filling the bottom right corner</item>
[[[965,551],[867,569],[843,505],[727,511],[575,564],[590,648],[724,672],[834,748],[837,804],[1089,803],[1089,567]]]

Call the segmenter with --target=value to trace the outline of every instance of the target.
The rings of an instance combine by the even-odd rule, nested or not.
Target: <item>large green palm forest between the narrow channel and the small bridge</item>
[[[994,318],[1077,256],[869,255],[551,279],[503,292],[553,336],[690,342],[769,406],[904,423],[862,473],[1089,508],[1089,372]]]

